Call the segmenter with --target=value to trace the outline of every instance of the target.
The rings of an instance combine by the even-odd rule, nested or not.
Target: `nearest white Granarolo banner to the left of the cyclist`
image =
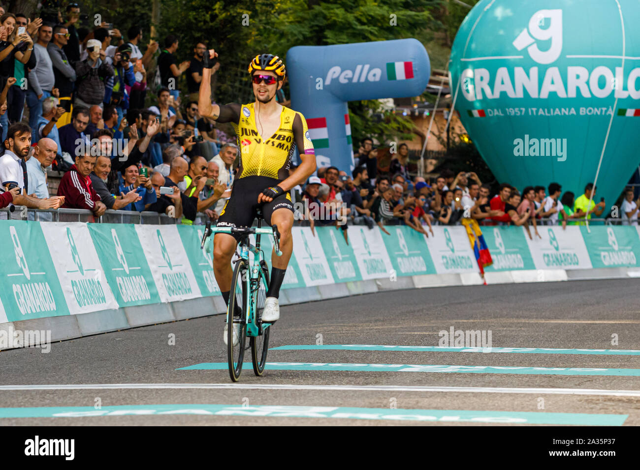
[[[161,301],[202,297],[175,225],[136,225],[136,232]]]

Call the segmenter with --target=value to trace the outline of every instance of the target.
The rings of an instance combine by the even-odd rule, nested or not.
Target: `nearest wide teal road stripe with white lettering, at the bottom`
[[[421,410],[272,405],[118,405],[94,407],[0,408],[0,418],[91,418],[191,414],[209,416],[266,416],[271,418],[380,419],[384,421],[437,421],[440,423],[494,423],[621,426],[627,414],[547,413],[518,411]]]

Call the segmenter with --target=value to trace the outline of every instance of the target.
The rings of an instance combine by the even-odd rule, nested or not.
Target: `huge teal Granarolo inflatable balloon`
[[[595,200],[611,207],[640,163],[638,24],[638,0],[474,6],[452,47],[451,87],[499,182],[557,182],[577,197],[600,165]]]

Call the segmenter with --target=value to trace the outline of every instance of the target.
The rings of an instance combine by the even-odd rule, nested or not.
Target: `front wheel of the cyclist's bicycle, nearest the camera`
[[[247,269],[246,262],[240,259],[236,262],[234,276],[231,282],[229,293],[229,308],[227,310],[227,359],[229,364],[229,375],[233,382],[237,382],[242,372],[244,360],[244,343],[246,342],[246,308],[248,308],[248,296],[246,292]],[[237,306],[237,308],[236,308]],[[241,312],[240,318],[234,318],[235,311]],[[234,345],[234,327],[239,325],[239,344]]]

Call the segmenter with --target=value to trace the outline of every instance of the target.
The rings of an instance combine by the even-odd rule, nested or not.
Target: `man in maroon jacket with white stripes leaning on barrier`
[[[89,153],[78,156],[76,164],[62,176],[58,186],[58,196],[65,196],[62,208],[88,209],[96,217],[100,217],[107,210],[106,205],[100,201],[100,196],[93,189],[89,177],[95,166],[95,160],[95,155]]]

